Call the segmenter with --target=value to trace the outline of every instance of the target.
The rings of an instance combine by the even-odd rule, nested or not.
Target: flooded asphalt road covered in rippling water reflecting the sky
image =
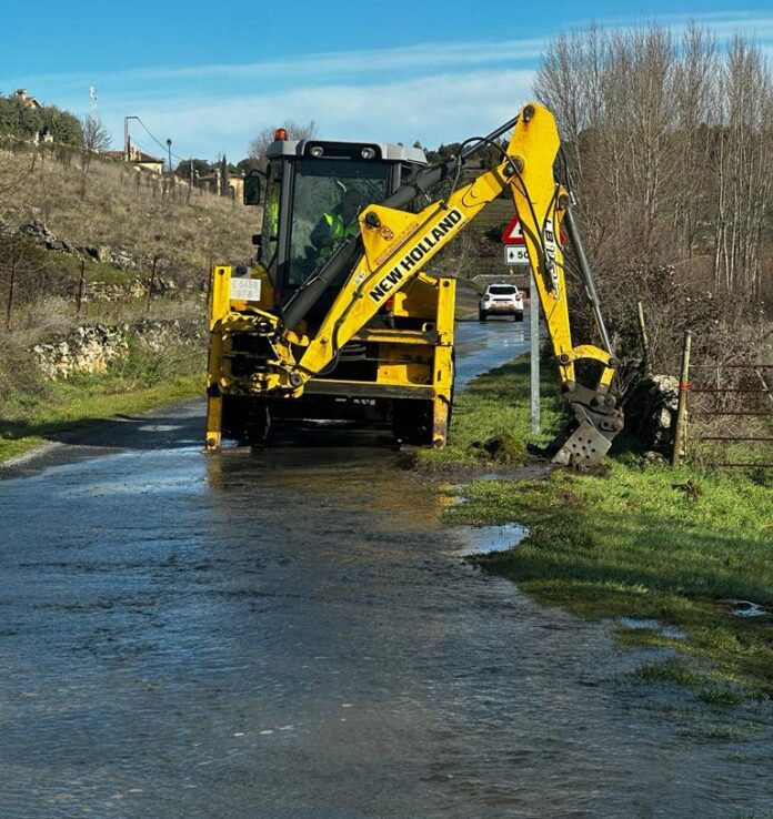
[[[460,373],[523,332],[462,325]],[[621,683],[605,626],[460,562],[396,453],[201,431],[128,421],[0,483],[0,817],[766,816],[765,715],[729,739]]]

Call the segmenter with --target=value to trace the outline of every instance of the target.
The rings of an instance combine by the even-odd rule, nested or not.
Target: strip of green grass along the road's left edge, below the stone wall
[[[0,462],[68,432],[203,395],[202,355],[195,351],[152,354],[132,350],[103,375],[79,375],[11,391],[0,413]]]

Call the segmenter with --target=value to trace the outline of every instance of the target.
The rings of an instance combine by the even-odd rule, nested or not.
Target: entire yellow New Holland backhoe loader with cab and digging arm
[[[423,267],[509,189],[574,415],[552,457],[563,464],[603,457],[623,425],[610,394],[616,362],[570,192],[554,176],[560,140],[546,109],[525,105],[488,136],[468,140],[458,158],[432,166],[421,150],[402,145],[289,141],[281,130],[277,136],[268,171],[245,180],[245,202],[264,204],[262,234],[253,236],[260,262],[213,271],[208,449],[219,448],[223,435],[260,443],[272,421],[293,418],[391,421],[400,441],[443,446],[454,281]],[[459,186],[464,162],[484,145],[501,151],[501,163]],[[432,201],[444,180],[451,192]],[[564,233],[603,348],[572,343]],[[590,385],[578,381],[578,364]]]

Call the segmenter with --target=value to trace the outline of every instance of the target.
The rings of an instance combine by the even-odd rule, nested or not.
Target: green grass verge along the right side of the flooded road
[[[460,397],[449,449],[420,454],[419,466],[510,463],[506,447],[492,453],[485,442],[530,438],[528,385],[523,361],[479,378]],[[559,418],[552,401],[543,421]],[[644,466],[621,452],[600,474],[479,479],[463,494],[466,503],[450,509],[446,523],[529,528],[514,550],[475,558],[482,567],[575,615],[672,627],[619,629],[628,645],[666,649],[664,664],[647,664],[635,678],[695,686],[714,705],[773,695],[771,618],[736,617],[723,603],[773,600],[770,486],[739,474]]]

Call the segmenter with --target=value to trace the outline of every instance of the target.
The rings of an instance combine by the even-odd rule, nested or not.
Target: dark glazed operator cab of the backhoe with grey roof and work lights
[[[320,246],[325,214],[339,232],[359,232],[355,216],[365,205],[382,202],[426,165],[422,149],[384,142],[278,139],[267,158],[259,261],[278,305],[332,254],[334,245]],[[318,310],[329,306],[349,272],[342,272]]]

